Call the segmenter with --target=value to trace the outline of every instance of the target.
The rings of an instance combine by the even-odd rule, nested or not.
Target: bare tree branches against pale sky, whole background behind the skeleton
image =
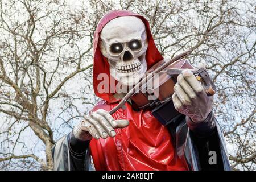
[[[192,48],[189,61],[207,63],[232,167],[254,170],[255,2],[246,0],[1,1],[0,168],[52,169],[55,140],[96,103],[93,31],[114,9],[143,15],[164,57]]]

